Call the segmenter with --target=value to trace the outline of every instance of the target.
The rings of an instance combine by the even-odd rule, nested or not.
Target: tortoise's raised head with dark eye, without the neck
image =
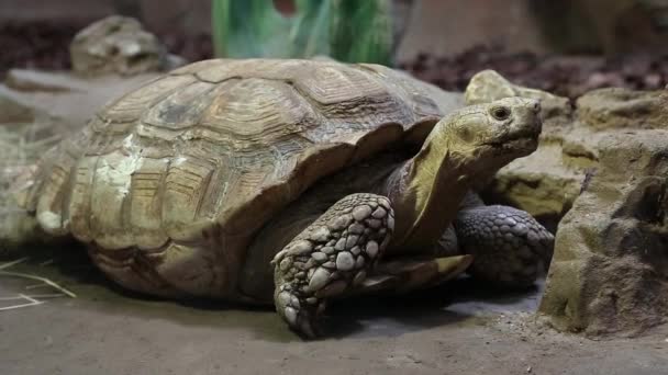
[[[516,96],[470,105],[443,118],[430,138],[463,164],[493,171],[536,150],[539,113],[537,100]]]

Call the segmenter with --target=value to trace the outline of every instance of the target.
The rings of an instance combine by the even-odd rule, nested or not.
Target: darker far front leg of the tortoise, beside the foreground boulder
[[[526,287],[549,265],[554,236],[524,211],[501,205],[464,208],[455,231],[460,251],[474,255],[468,272],[476,279]]]

